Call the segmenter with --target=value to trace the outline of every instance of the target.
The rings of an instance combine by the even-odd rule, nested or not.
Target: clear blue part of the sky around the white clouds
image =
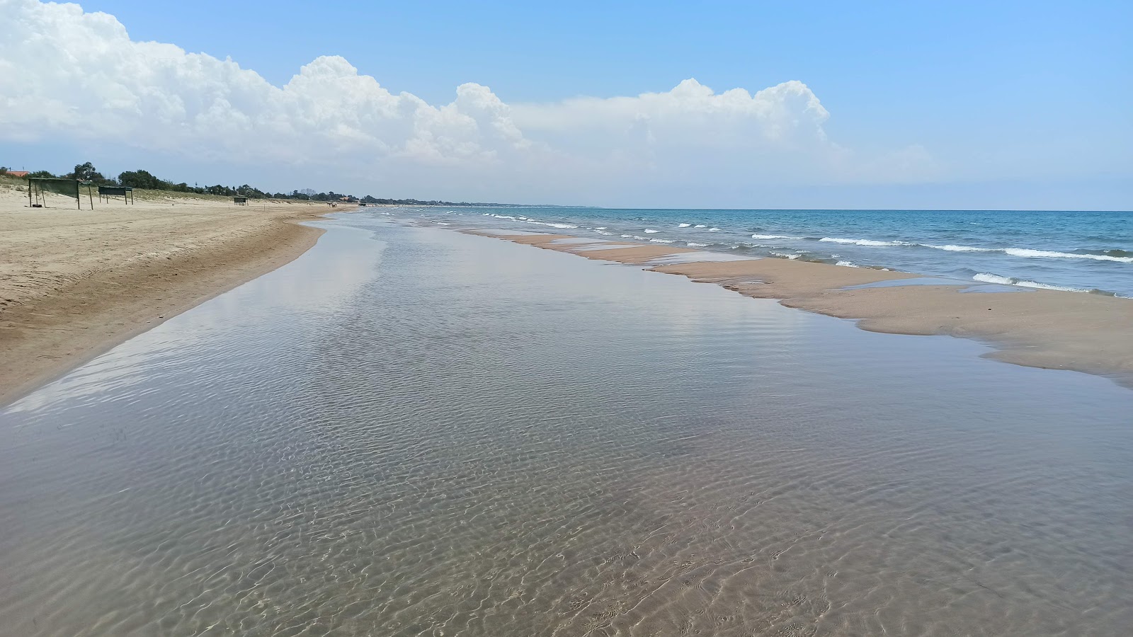
[[[578,96],[664,93],[687,78],[717,94],[735,87],[755,94],[798,80],[829,113],[817,122],[823,135],[861,158],[853,161],[868,163],[872,160],[864,158],[915,148],[926,165],[931,163],[892,184],[885,179],[888,169],[880,168],[855,177],[789,175],[755,189],[697,180],[689,173],[682,185],[690,195],[681,205],[743,207],[770,197],[775,205],[836,206],[842,197],[843,205],[853,207],[1133,207],[1130,2],[539,6],[91,0],[82,6],[88,12],[114,16],[134,42],[172,43],[189,53],[231,58],[275,86],[316,58],[341,56],[358,74],[373,76],[393,94],[411,93],[432,105],[452,102],[463,83],[488,87],[504,104],[519,109],[518,104],[555,104]],[[519,127],[525,137],[543,143],[539,134],[522,122]],[[35,156],[37,146],[57,151],[71,146],[61,134],[34,144],[9,143],[39,161],[48,158]],[[76,144],[99,147],[94,141]],[[207,173],[210,165],[216,165],[215,158],[208,161],[168,150],[110,154],[111,163],[136,158],[178,172]],[[598,156],[597,151],[591,156]],[[688,172],[665,163],[671,161],[662,162],[664,175]],[[736,176],[764,173],[765,165],[752,163]],[[383,173],[389,172],[382,167]],[[261,168],[248,167],[249,177],[238,180],[271,179]],[[399,172],[398,180],[411,184],[414,192],[390,194],[458,196],[448,186],[428,187],[429,179],[441,177],[460,182],[445,171],[429,169],[415,173],[417,178]],[[332,175],[324,177],[333,180]],[[585,175],[580,172],[579,179]],[[647,201],[648,193],[673,190],[671,177],[654,184],[667,188],[650,188],[649,179],[639,176],[628,179],[632,184],[621,193],[615,185],[589,190],[582,184],[580,201],[560,203],[657,205]],[[212,175],[202,179],[211,177],[219,179]],[[469,184],[484,179],[479,175]],[[370,187],[375,193],[399,188],[381,177],[368,182],[357,175],[342,180],[322,187]],[[491,188],[470,189],[476,192],[469,197],[492,195]],[[509,187],[502,175],[495,189],[499,199],[564,194],[550,186]]]

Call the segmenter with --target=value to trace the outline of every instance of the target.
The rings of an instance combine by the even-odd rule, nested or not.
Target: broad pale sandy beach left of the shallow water
[[[77,211],[51,195],[29,209],[0,184],[0,405],[293,260],[322,233],[297,222],[332,210],[144,197]]]

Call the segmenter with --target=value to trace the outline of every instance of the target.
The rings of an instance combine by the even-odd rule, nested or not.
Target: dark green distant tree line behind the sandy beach
[[[7,168],[0,167],[0,175],[8,171]],[[267,190],[261,190],[247,184],[242,186],[222,186],[220,184],[215,186],[189,186],[187,182],[181,181],[180,184],[174,184],[173,181],[167,179],[160,179],[154,177],[148,170],[127,170],[120,172],[117,178],[105,177],[99,172],[94,164],[91,162],[79,163],[75,165],[75,170],[68,172],[67,175],[52,175],[46,170],[36,170],[35,172],[28,172],[28,177],[46,177],[46,178],[61,178],[61,179],[78,179],[82,181],[91,181],[100,186],[127,186],[131,188],[139,188],[146,190],[170,190],[173,193],[194,193],[197,195],[220,195],[225,197],[248,197],[249,199],[300,199],[300,201],[312,201],[312,202],[348,202],[348,203],[366,203],[366,204],[395,204],[395,205],[509,205],[509,204],[484,204],[484,203],[469,203],[469,202],[442,202],[442,201],[420,201],[420,199],[390,199],[382,197],[374,197],[372,195],[365,195],[361,197],[356,197],[353,195],[347,195],[342,193],[335,193],[330,190],[326,193],[316,193],[310,189],[291,190],[291,193],[271,193]]]

